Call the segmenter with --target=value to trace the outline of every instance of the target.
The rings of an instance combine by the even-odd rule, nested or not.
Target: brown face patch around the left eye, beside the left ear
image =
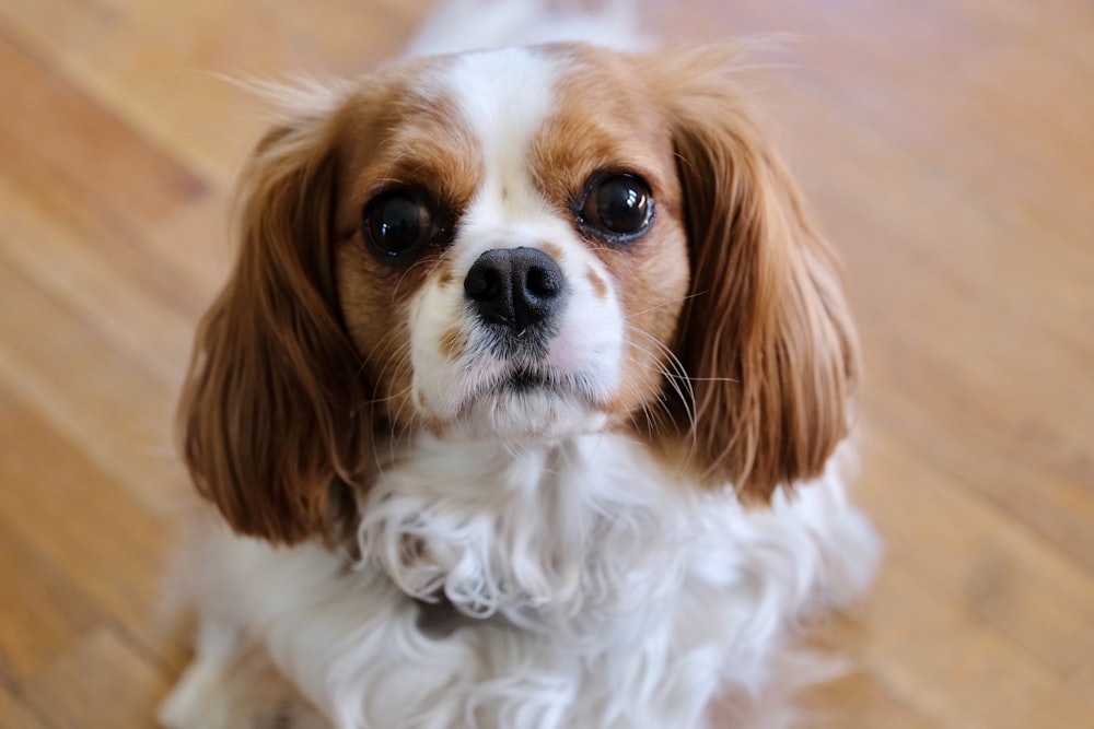
[[[384,191],[412,190],[450,235],[455,230],[481,178],[480,150],[451,99],[419,91],[423,75],[449,62],[416,59],[394,66],[362,81],[342,111],[334,225],[350,235],[335,251],[338,298],[379,414],[401,425],[411,424],[416,411],[410,302],[422,286],[450,285],[455,278],[446,240],[406,257],[386,257],[369,245],[362,213]],[[446,341],[453,352],[458,344]]]

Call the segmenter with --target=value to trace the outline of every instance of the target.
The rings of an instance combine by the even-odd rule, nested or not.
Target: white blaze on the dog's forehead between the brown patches
[[[528,151],[555,103],[558,61],[528,48],[474,52],[445,77],[452,101],[481,150],[482,186],[465,224],[526,224],[547,210]]]

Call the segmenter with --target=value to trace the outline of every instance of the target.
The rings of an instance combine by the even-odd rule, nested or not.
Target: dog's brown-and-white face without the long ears
[[[377,414],[520,440],[656,401],[688,252],[664,110],[633,72],[512,49],[394,70],[350,104],[338,299]]]

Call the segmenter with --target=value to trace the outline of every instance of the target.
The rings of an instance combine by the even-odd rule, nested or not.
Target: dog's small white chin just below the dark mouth
[[[450,439],[536,443],[596,433],[607,420],[579,384],[513,369],[470,393],[443,430]]]

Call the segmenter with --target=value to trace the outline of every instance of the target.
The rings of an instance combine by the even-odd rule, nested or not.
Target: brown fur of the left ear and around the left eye
[[[179,411],[198,491],[242,533],[330,537],[354,508],[350,489],[391,407],[392,388],[375,383],[399,374],[384,369],[397,358],[392,292],[412,293],[429,272],[366,256],[361,207],[384,184],[447,180],[438,195],[452,208],[474,188],[466,152],[398,136],[411,114],[446,121],[445,108],[406,93],[426,64],[331,90],[269,131],[242,173],[238,258],[198,329]],[[360,341],[394,349],[361,352]]]

